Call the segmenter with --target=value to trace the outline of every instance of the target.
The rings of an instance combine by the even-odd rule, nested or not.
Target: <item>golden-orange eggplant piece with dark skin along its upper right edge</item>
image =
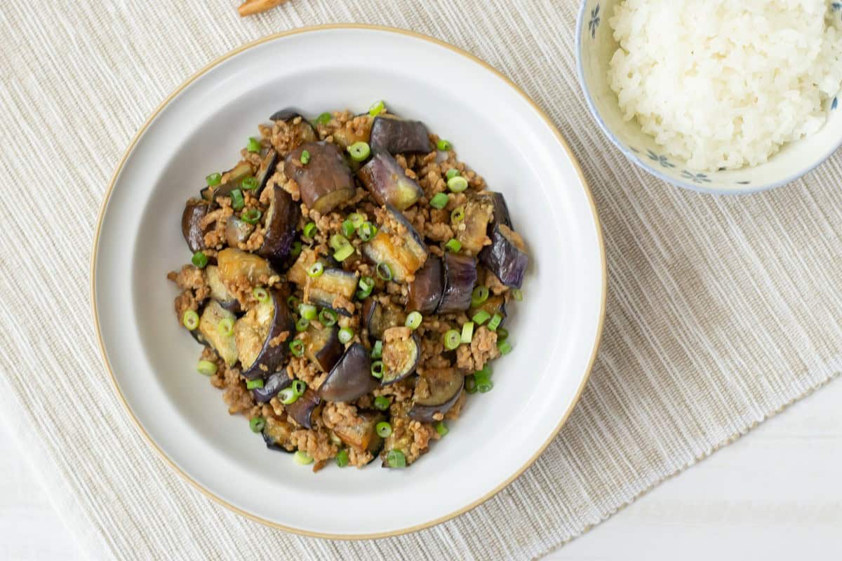
[[[392,220],[387,220],[377,235],[363,244],[362,253],[371,262],[386,262],[392,269],[392,279],[401,283],[427,261],[427,245],[401,211],[391,204],[386,204],[386,211]],[[392,231],[392,222],[399,225],[398,231]],[[400,245],[394,243],[393,237],[400,238]]]

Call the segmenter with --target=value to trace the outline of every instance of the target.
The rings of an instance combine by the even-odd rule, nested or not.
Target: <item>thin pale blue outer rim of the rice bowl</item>
[[[601,1],[601,0],[600,0]],[[585,14],[588,12],[588,0],[582,0],[582,5],[579,8],[578,16],[576,17],[576,71],[578,74],[578,82],[579,87],[582,89],[582,93],[584,94],[585,103],[587,103],[588,108],[590,110],[591,116],[593,116],[594,120],[597,124],[600,125],[600,129],[602,133],[608,137],[611,143],[616,146],[617,150],[621,151],[623,156],[632,163],[640,167],[645,172],[648,172],[650,175],[657,177],[658,179],[666,182],[672,183],[676,187],[685,188],[690,191],[695,191],[696,193],[707,193],[713,195],[747,195],[751,193],[761,193],[763,191],[768,191],[770,189],[783,187],[784,185],[788,185],[807,175],[807,173],[812,172],[814,169],[819,167],[821,164],[824,163],[830,156],[833,156],[834,152],[839,150],[839,147],[842,147],[842,135],[839,136],[839,141],[836,142],[835,145],[831,145],[831,147],[825,151],[814,163],[810,164],[808,167],[803,168],[802,170],[786,177],[785,179],[780,179],[778,181],[772,183],[765,183],[761,185],[752,185],[751,187],[747,188],[731,188],[731,189],[722,189],[722,188],[706,188],[698,183],[688,183],[685,182],[677,177],[670,177],[669,175],[658,171],[655,167],[649,167],[645,161],[642,161],[637,155],[632,152],[629,148],[621,143],[620,139],[616,137],[613,131],[608,128],[608,125],[605,124],[605,120],[602,119],[602,115],[600,111],[596,108],[596,104],[594,103],[594,99],[590,94],[590,89],[588,87],[588,82],[584,79],[584,63],[582,61],[582,46],[583,46],[583,25],[584,25],[584,18]],[[602,14],[603,19],[605,20],[605,24],[607,25],[607,19],[605,19],[605,13]],[[826,123],[825,123],[826,124]]]

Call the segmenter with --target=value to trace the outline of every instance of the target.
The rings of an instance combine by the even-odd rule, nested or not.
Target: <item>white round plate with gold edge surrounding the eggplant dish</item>
[[[353,57],[346,56],[352,53]],[[514,352],[494,389],[411,468],[318,474],[264,447],[195,372],[200,347],[173,315],[165,275],[189,262],[184,201],[230,167],[258,123],[295,106],[362,111],[375,99],[450,139],[502,191],[530,248]],[[537,458],[588,378],[605,310],[605,256],[589,190],[567,145],[517,87],[466,53],[397,29],[331,26],[274,35],[200,71],[129,146],[94,241],[93,315],[106,366],[153,447],[206,495],[290,532],[380,537],[487,500]]]

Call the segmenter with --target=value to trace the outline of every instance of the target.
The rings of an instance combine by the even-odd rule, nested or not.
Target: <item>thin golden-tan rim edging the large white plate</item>
[[[553,134],[556,135],[556,137],[558,139],[558,142],[562,145],[564,150],[567,151],[568,156],[570,156],[570,161],[573,163],[573,167],[576,169],[576,172],[578,173],[579,181],[582,183],[582,186],[584,187],[585,194],[588,196],[588,202],[590,204],[591,212],[594,214],[594,224],[596,225],[597,239],[600,242],[600,261],[602,262],[602,302],[600,304],[600,321],[599,321],[599,324],[597,325],[597,334],[596,334],[596,340],[594,341],[594,349],[591,352],[591,356],[590,356],[590,359],[589,359],[589,362],[588,362],[588,367],[585,369],[584,377],[582,378],[582,383],[579,384],[579,387],[576,390],[576,395],[573,398],[573,402],[568,407],[568,410],[566,410],[564,412],[564,415],[562,415],[561,421],[558,422],[558,425],[552,431],[552,434],[550,435],[550,437],[548,437],[546,439],[546,442],[544,442],[541,445],[541,447],[537,450],[537,452],[535,454],[533,454],[532,457],[529,458],[526,461],[526,463],[524,463],[522,468],[515,471],[514,474],[510,475],[509,478],[506,479],[503,483],[498,484],[497,487],[495,487],[493,490],[489,491],[486,495],[483,495],[481,498],[473,501],[470,505],[466,505],[466,506],[462,507],[461,509],[459,509],[457,511],[454,511],[454,512],[451,512],[450,514],[447,514],[445,516],[440,516],[439,518],[436,518],[434,520],[424,522],[424,524],[418,524],[416,526],[406,527],[406,528],[402,528],[401,530],[395,530],[395,531],[392,531],[392,532],[378,532],[378,533],[373,533],[373,534],[329,534],[329,533],[322,533],[322,532],[309,532],[307,530],[301,530],[299,528],[286,527],[282,524],[278,524],[277,522],[269,521],[269,520],[266,520],[266,519],[261,518],[259,516],[255,516],[255,515],[251,514],[250,512],[243,511],[242,509],[238,508],[237,506],[234,506],[231,503],[227,502],[226,500],[223,500],[221,497],[218,497],[218,496],[214,495],[213,493],[210,492],[210,490],[205,489],[205,487],[200,485],[194,479],[190,478],[189,474],[186,474],[181,468],[179,468],[179,466],[177,466],[175,463],[173,463],[173,460],[171,460],[168,457],[168,455],[166,453],[164,453],[163,450],[160,447],[157,446],[157,443],[154,440],[152,440],[152,437],[149,436],[147,431],[143,428],[143,426],[141,425],[141,422],[137,420],[137,417],[135,416],[134,411],[131,410],[131,406],[125,400],[125,396],[123,395],[123,392],[120,391],[120,385],[117,384],[117,378],[115,378],[114,371],[111,369],[111,364],[109,363],[108,355],[105,352],[105,345],[104,345],[104,341],[103,341],[103,338],[102,338],[102,332],[100,331],[100,328],[99,328],[99,314],[97,313],[97,299],[96,299],[97,248],[99,247],[99,233],[100,233],[100,230],[102,229],[102,224],[103,224],[103,220],[104,220],[104,216],[105,216],[105,209],[108,207],[109,199],[111,198],[111,192],[114,190],[114,186],[115,186],[115,183],[117,181],[117,177],[120,175],[120,171],[123,169],[123,166],[125,165],[125,161],[128,159],[129,155],[133,151],[135,145],[137,144],[137,141],[140,140],[143,133],[146,132],[147,127],[152,122],[152,120],[155,119],[155,117],[157,117],[157,114],[159,114],[163,110],[163,108],[167,107],[167,105],[170,103],[170,101],[173,100],[173,98],[175,96],[177,96],[179,93],[184,91],[184,88],[188,87],[191,83],[195,82],[195,80],[197,78],[201,77],[202,75],[204,75],[205,72],[209,71],[211,68],[217,66],[221,62],[226,61],[227,59],[231,58],[232,56],[235,56],[235,55],[241,53],[244,50],[248,50],[255,45],[260,45],[262,43],[266,43],[266,42],[271,41],[271,40],[280,39],[281,37],[288,37],[290,35],[308,33],[308,32],[311,32],[311,31],[322,31],[322,30],[325,30],[325,29],[367,29],[367,30],[373,30],[373,31],[385,31],[385,32],[388,32],[388,33],[408,35],[408,36],[414,37],[416,39],[425,40],[425,41],[428,41],[429,43],[433,43],[434,45],[439,45],[439,46],[445,47],[446,49],[452,50],[453,52],[455,52],[458,55],[466,57],[467,59],[477,63],[480,66],[482,66],[486,70],[493,72],[493,74],[495,76],[497,76],[498,78],[503,80],[506,84],[509,85],[509,87],[514,88],[514,91],[519,93],[520,96],[523,97],[525,99],[525,101],[530,104],[530,106],[536,111],[536,113],[541,116],[541,119],[544,119],[544,121],[546,122],[546,125],[550,128],[550,130],[552,130]],[[96,230],[95,230],[94,235],[93,235],[93,251],[91,252],[91,306],[93,308],[93,325],[94,325],[94,329],[96,330],[97,340],[99,341],[99,353],[102,356],[102,360],[103,360],[105,369],[108,370],[109,376],[111,378],[111,384],[113,384],[113,386],[114,386],[117,397],[120,399],[120,403],[123,404],[123,407],[128,412],[129,416],[131,417],[131,421],[135,423],[135,426],[137,427],[137,429],[139,431],[141,431],[141,434],[143,435],[143,437],[146,438],[147,442],[149,442],[149,444],[158,453],[158,455],[161,458],[163,458],[164,462],[168,463],[170,468],[173,468],[175,473],[179,474],[189,484],[193,485],[193,487],[195,487],[195,489],[199,490],[202,493],[202,495],[205,495],[206,497],[208,497],[211,500],[215,500],[218,504],[226,507],[227,509],[229,509],[231,511],[236,512],[237,514],[239,514],[241,516],[245,516],[249,520],[253,520],[253,521],[259,522],[261,524],[264,524],[265,526],[277,528],[279,530],[283,530],[285,532],[291,532],[291,533],[298,534],[298,535],[301,535],[301,536],[325,537],[325,538],[329,538],[329,539],[338,539],[338,540],[365,540],[365,539],[375,539],[375,538],[379,538],[379,537],[394,537],[394,536],[402,536],[403,534],[408,534],[408,533],[411,533],[411,532],[418,532],[418,530],[424,530],[424,528],[429,528],[429,527],[435,526],[436,524],[440,524],[441,522],[449,521],[451,518],[455,518],[456,516],[460,516],[461,514],[464,514],[467,511],[470,511],[473,508],[476,508],[477,506],[482,505],[482,503],[484,503],[486,500],[492,498],[494,495],[497,495],[501,490],[504,489],[504,487],[506,487],[512,481],[514,481],[514,479],[517,479],[518,477],[520,477],[520,475],[523,474],[526,471],[527,468],[529,468],[533,463],[535,463],[536,459],[538,459],[538,457],[541,456],[541,453],[543,453],[544,450],[546,450],[546,447],[550,445],[550,442],[552,442],[552,440],[555,437],[557,437],[558,431],[562,430],[562,426],[564,426],[564,423],[568,420],[568,417],[570,416],[570,413],[573,411],[573,408],[578,403],[578,400],[581,397],[582,392],[584,391],[585,385],[588,383],[588,378],[590,378],[591,370],[594,368],[594,361],[596,360],[596,353],[597,353],[597,350],[600,348],[600,341],[602,340],[602,330],[603,330],[603,325],[605,323],[605,299],[606,299],[607,293],[608,293],[608,274],[607,274],[607,267],[605,265],[605,243],[604,243],[603,237],[602,237],[602,225],[600,224],[600,216],[599,216],[599,214],[597,214],[596,204],[594,204],[594,195],[593,195],[593,193],[591,193],[590,188],[588,186],[588,183],[585,181],[584,173],[582,172],[582,168],[578,164],[578,160],[576,159],[576,156],[573,155],[573,151],[570,150],[570,146],[568,146],[567,140],[564,140],[564,137],[562,136],[562,134],[557,130],[556,125],[552,123],[552,120],[550,120],[550,118],[546,116],[546,114],[543,112],[543,110],[541,110],[541,108],[539,108],[536,105],[536,103],[533,102],[530,99],[530,97],[528,95],[526,95],[526,93],[522,89],[520,89],[520,87],[515,85],[514,82],[509,80],[508,77],[505,77],[497,69],[493,68],[493,66],[490,66],[490,65],[488,65],[487,62],[482,61],[481,59],[477,58],[477,56],[473,56],[471,53],[466,52],[465,50],[461,50],[461,49],[459,49],[459,48],[457,48],[453,45],[445,43],[445,41],[438,40],[438,39],[435,39],[433,37],[429,37],[428,35],[419,34],[419,33],[416,33],[414,31],[408,31],[406,29],[398,29],[398,28],[386,27],[386,26],[381,26],[381,25],[367,25],[367,24],[314,25],[314,26],[311,26],[311,27],[302,27],[302,28],[298,28],[298,29],[290,29],[289,31],[282,31],[280,33],[271,34],[267,37],[264,37],[263,39],[258,39],[258,40],[252,41],[251,43],[247,43],[246,45],[242,45],[241,47],[238,47],[237,49],[232,50],[232,51],[226,53],[225,55],[217,58],[216,61],[211,62],[210,64],[208,64],[207,66],[202,68],[200,71],[196,72],[192,77],[189,77],[189,79],[186,82],[184,82],[178,88],[176,88],[176,90],[173,93],[170,93],[167,96],[167,98],[164,99],[163,102],[160,105],[157,106],[157,108],[152,113],[152,115],[149,116],[147,121],[143,124],[143,126],[141,126],[140,130],[137,131],[137,134],[131,140],[131,144],[129,144],[128,148],[126,148],[125,153],[123,154],[123,157],[120,158],[120,162],[117,164],[117,168],[115,169],[114,175],[111,177],[111,181],[109,182],[108,189],[105,192],[105,197],[103,198],[102,206],[99,209],[99,218],[97,219],[97,227],[96,227]]]

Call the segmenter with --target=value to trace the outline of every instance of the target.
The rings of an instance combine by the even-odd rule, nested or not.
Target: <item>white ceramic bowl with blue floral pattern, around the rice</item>
[[[750,193],[794,181],[829,157],[842,145],[839,98],[829,99],[828,124],[808,139],[785,146],[770,161],[740,170],[699,172],[685,161],[664,153],[663,146],[645,135],[635,121],[626,121],[608,84],[608,65],[617,49],[606,20],[621,0],[584,0],[578,14],[576,48],[579,82],[584,99],[605,135],[638,166],[679,187],[705,193]],[[842,15],[842,1],[829,5]],[[599,33],[598,33],[599,31]],[[842,95],[842,93],[840,93]]]

